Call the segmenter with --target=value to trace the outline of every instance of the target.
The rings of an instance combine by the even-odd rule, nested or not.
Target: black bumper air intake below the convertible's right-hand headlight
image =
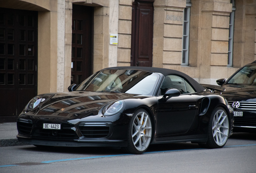
[[[109,137],[112,123],[80,123],[79,130],[85,138]]]

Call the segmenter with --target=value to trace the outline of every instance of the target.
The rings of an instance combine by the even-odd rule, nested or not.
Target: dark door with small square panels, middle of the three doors
[[[73,5],[71,84],[92,74],[93,7]]]

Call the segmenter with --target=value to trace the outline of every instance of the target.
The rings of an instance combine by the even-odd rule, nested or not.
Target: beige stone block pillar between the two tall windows
[[[213,84],[227,77],[230,0],[201,0],[198,28],[199,82]]]

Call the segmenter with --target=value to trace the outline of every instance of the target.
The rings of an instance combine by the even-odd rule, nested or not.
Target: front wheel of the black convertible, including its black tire
[[[151,143],[152,123],[149,113],[144,109],[138,109],[129,123],[128,146],[125,151],[132,154],[144,153]]]

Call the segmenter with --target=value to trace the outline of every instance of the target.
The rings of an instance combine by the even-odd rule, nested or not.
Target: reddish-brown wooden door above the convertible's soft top
[[[153,3],[132,3],[131,66],[152,66]]]

